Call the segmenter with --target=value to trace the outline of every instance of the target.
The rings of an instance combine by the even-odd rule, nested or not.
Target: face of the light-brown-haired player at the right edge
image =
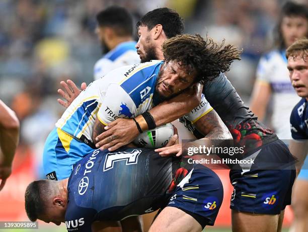
[[[290,72],[290,80],[297,95],[308,99],[308,56],[289,57],[288,69]]]

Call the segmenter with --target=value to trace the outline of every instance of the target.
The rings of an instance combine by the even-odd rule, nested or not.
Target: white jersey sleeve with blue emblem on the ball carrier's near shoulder
[[[129,94],[120,85],[110,84],[97,113],[100,122],[108,125],[118,118],[132,118],[136,114],[136,105]]]

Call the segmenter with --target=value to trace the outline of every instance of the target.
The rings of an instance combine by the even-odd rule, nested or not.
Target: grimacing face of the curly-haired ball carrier
[[[156,94],[165,100],[190,87],[194,82],[196,71],[188,71],[189,69],[191,68],[181,66],[177,61],[165,62],[156,83]]]

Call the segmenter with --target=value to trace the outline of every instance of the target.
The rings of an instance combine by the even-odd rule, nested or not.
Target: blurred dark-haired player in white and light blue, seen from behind
[[[94,79],[102,78],[109,71],[129,64],[139,63],[136,41],[133,41],[132,18],[122,7],[109,7],[97,17],[96,33],[103,53],[94,66]]]

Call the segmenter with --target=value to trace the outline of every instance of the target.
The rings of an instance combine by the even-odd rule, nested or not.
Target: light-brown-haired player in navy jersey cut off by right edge
[[[308,229],[308,39],[294,42],[286,51],[290,81],[297,95],[302,99],[292,110],[290,123],[294,140],[290,141],[290,151],[298,159],[296,171],[298,177],[293,188],[292,207],[294,223],[292,231],[307,231]],[[302,169],[301,169],[302,168]],[[301,169],[301,170],[300,170]]]

